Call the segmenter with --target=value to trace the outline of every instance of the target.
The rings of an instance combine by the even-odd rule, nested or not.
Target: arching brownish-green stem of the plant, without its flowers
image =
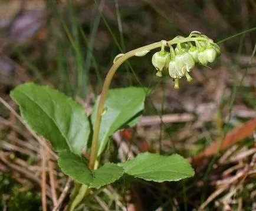
[[[207,41],[207,38],[184,38],[184,39],[179,39],[179,38],[174,38],[171,41],[168,41],[168,45],[173,45],[176,43],[182,43],[182,42],[189,42],[189,41]],[[160,42],[155,42],[150,45],[143,46],[141,48],[134,49],[132,51],[129,51],[125,53],[123,56],[121,56],[117,61],[111,66],[110,71],[107,73],[106,79],[103,84],[101,96],[100,96],[100,102],[99,106],[97,109],[97,115],[96,115],[96,123],[94,126],[94,133],[93,133],[93,140],[91,144],[91,155],[90,155],[90,162],[89,162],[89,168],[91,170],[96,169],[94,168],[96,158],[97,158],[97,146],[99,142],[99,131],[100,131],[100,123],[101,123],[101,114],[103,113],[104,109],[104,103],[107,98],[107,91],[109,91],[109,86],[110,83],[113,79],[114,73],[116,73],[117,69],[119,68],[120,65],[122,65],[123,62],[125,62],[127,59],[131,58],[132,56],[135,55],[136,52],[142,52],[142,51],[150,51],[155,48],[160,48],[162,46],[162,41]]]

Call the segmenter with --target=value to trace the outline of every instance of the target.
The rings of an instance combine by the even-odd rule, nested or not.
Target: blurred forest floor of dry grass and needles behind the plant
[[[111,138],[105,158],[179,153],[191,160],[195,177],[119,182],[80,210],[256,210],[255,12],[255,0],[0,0],[0,96],[18,112],[9,92],[34,82],[64,92],[90,113],[117,54],[202,32],[220,42],[222,54],[209,67],[193,68],[193,81],[180,80],[178,90],[170,77],[155,76],[153,51],[119,68],[112,88],[155,92],[139,125]],[[40,143],[9,109],[0,104],[0,210],[40,210]],[[218,139],[225,150],[201,158]],[[57,165],[54,175],[60,195],[67,177]],[[47,205],[50,210],[51,195]]]

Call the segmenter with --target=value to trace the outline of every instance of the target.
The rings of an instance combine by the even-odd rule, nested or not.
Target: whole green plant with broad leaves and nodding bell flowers
[[[192,80],[189,72],[195,63],[207,65],[220,54],[219,46],[199,32],[191,32],[187,38],[176,36],[171,41],[160,41],[121,53],[114,59],[101,95],[88,117],[81,105],[48,86],[26,83],[11,92],[26,125],[51,143],[58,153],[61,170],[76,182],[68,210],[74,210],[85,196],[91,194],[91,190],[96,191],[95,188],[109,185],[125,175],[155,182],[177,181],[194,175],[188,160],[176,154],[140,153],[124,163],[101,161],[109,145],[109,136],[124,126],[136,124],[142,116],[147,96],[145,88],[109,91],[114,73],[130,57],[145,56],[155,48],[161,48],[152,56],[156,75],[161,77],[162,73],[169,73],[176,89],[183,76]],[[83,156],[84,148],[90,153],[88,160]]]

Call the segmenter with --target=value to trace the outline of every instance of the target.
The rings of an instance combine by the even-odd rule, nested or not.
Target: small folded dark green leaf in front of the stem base
[[[99,169],[88,169],[87,160],[71,152],[61,152],[58,165],[63,172],[89,187],[101,187],[113,183],[123,176],[123,168],[114,163],[106,163]]]

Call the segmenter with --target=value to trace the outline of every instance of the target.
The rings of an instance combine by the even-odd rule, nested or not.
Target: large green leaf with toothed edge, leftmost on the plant
[[[90,135],[85,110],[63,93],[48,86],[25,83],[11,91],[25,123],[49,140],[57,151],[71,150],[81,155]]]

